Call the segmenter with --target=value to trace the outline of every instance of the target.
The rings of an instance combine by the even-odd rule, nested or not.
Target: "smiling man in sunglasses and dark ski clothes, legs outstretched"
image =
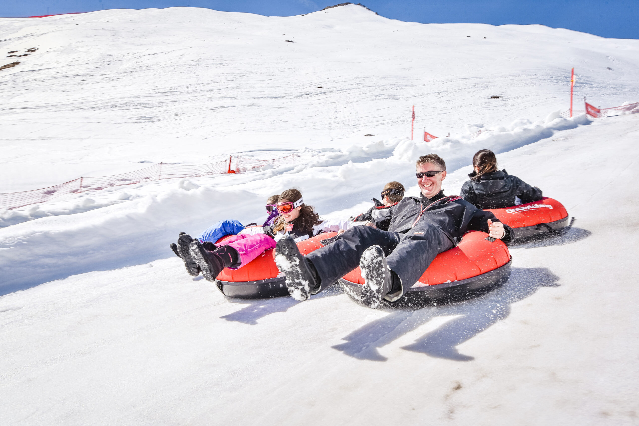
[[[436,255],[455,247],[468,231],[510,243],[511,229],[493,213],[461,197],[445,197],[446,164],[440,156],[420,156],[416,169],[421,194],[404,197],[391,209],[389,231],[354,227],[306,256],[288,238],[277,243],[275,262],[291,296],[306,300],[359,266],[365,280],[362,302],[376,308],[382,299],[399,300]]]

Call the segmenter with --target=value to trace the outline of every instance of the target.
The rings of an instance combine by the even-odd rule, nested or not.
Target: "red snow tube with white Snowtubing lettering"
[[[569,220],[568,212],[560,202],[549,197],[520,206],[487,210],[513,229],[513,240],[563,234],[574,221],[574,218]]]

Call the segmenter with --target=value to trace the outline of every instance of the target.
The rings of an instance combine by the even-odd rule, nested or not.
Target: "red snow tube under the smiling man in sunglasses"
[[[502,240],[486,237],[486,232],[466,232],[457,247],[435,257],[424,275],[396,303],[465,300],[504,284],[511,275],[511,254]],[[360,300],[364,285],[360,268],[344,275],[339,284],[352,298]]]

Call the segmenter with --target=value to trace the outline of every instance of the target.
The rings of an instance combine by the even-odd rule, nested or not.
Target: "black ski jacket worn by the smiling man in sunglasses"
[[[443,191],[431,199],[427,199],[422,194],[419,197],[404,197],[390,209],[391,219],[388,230],[404,234],[410,231],[419,220],[426,220],[441,229],[457,245],[468,231],[489,232],[488,219],[501,222],[490,211],[478,209],[463,199],[447,202],[443,200],[442,203],[438,203],[437,201],[443,197]],[[422,212],[421,217],[420,212]],[[502,241],[508,245],[512,240],[511,227],[504,224],[504,231],[505,236]]]

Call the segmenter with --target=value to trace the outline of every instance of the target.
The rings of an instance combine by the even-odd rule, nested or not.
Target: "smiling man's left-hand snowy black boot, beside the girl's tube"
[[[295,300],[307,300],[316,292],[316,280],[293,238],[286,236],[275,246],[275,264],[286,276],[286,288]]]

